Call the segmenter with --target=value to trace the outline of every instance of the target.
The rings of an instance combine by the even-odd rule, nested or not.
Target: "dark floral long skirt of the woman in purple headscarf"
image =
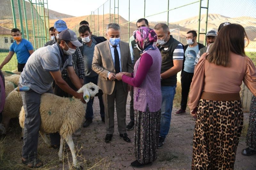
[[[135,158],[141,163],[153,162],[157,158],[161,110],[146,112],[134,110]]]

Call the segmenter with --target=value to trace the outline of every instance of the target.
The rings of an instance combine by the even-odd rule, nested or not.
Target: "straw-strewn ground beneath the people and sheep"
[[[129,123],[128,95],[126,105],[126,122]],[[104,141],[106,131],[105,125],[100,119],[99,100],[96,98],[93,104],[94,118],[88,128],[82,128],[80,137],[73,137],[78,150],[78,160],[84,169],[134,169],[130,166],[134,158],[134,130],[127,131],[132,143],[125,142],[117,130],[115,116],[115,132],[111,143]],[[192,161],[192,138],[195,121],[189,114],[174,115],[178,108],[172,110],[171,128],[165,143],[157,150],[158,158],[151,167],[142,169],[191,169]],[[244,113],[244,124],[248,124],[249,114]],[[21,164],[22,140],[20,139],[20,128],[15,126],[17,121],[12,121],[6,137],[0,137],[0,169],[26,169]],[[14,124],[14,125],[13,125]],[[245,134],[242,135],[237,153],[235,169],[256,169],[256,155],[246,157],[241,154],[246,148]],[[2,153],[2,154],[1,154]],[[41,137],[38,143],[38,155],[44,161],[40,169],[69,169],[72,165],[70,152],[64,152],[62,162],[58,161],[58,150],[48,148]],[[2,165],[1,165],[2,164]]]

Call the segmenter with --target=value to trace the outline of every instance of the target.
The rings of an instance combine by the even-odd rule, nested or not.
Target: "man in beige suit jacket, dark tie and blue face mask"
[[[107,135],[105,142],[109,143],[114,133],[114,111],[116,101],[117,125],[120,137],[131,142],[126,133],[126,100],[129,85],[116,80],[119,72],[132,72],[132,60],[129,44],[120,41],[120,26],[110,23],[107,26],[108,41],[97,44],[94,48],[92,70],[99,74],[98,86],[103,91],[105,107],[105,125]]]

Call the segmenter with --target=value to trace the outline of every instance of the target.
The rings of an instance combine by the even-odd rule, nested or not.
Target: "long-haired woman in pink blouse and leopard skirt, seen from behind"
[[[244,53],[244,27],[230,24],[218,33],[195,67],[188,106],[197,116],[192,169],[233,169],[243,128],[242,81],[256,95],[256,68]]]

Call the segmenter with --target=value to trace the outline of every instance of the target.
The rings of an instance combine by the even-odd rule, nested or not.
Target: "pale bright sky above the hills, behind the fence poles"
[[[65,13],[73,16],[84,16],[95,11],[98,14],[97,8],[100,7],[99,14],[109,13],[109,1],[111,4],[111,13],[114,13],[114,0],[48,0],[48,8],[60,13]],[[169,9],[174,9],[179,6],[196,2],[197,0],[170,0]],[[119,6],[116,0],[116,7],[119,7],[119,15],[128,20],[129,1],[119,0]],[[157,4],[156,4],[157,2]],[[166,21],[167,12],[156,16],[150,15],[166,11],[168,9],[168,0],[146,0],[145,16],[149,21]],[[154,5],[155,4],[155,5]],[[206,6],[206,0],[202,1],[202,6]],[[117,10],[117,8],[116,8]],[[116,12],[117,13],[117,12]],[[179,9],[169,12],[169,22],[176,22],[193,16],[199,13],[199,3],[190,4]],[[201,14],[205,14],[206,10],[202,9]],[[256,0],[209,0],[208,13],[217,13],[227,17],[250,16],[256,18]],[[130,21],[144,17],[144,0],[130,0]]]

